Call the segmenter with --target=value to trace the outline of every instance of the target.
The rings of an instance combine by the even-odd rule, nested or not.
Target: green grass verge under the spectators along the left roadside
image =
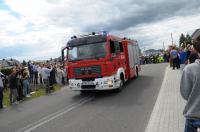
[[[53,92],[59,91],[61,89],[61,87],[62,86],[58,85],[58,84],[53,85]],[[10,106],[9,94],[10,94],[9,89],[4,90],[3,104],[5,106]],[[44,96],[44,95],[46,95],[45,88],[43,86],[40,86],[40,87],[38,87],[38,90],[36,90],[35,93],[31,95],[30,98],[24,98],[24,101],[30,100],[30,99],[33,99],[33,98],[37,98],[37,97],[40,97],[40,96]]]

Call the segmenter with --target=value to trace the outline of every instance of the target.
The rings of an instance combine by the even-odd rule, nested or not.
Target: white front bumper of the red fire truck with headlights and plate
[[[120,80],[115,75],[96,78],[94,81],[82,81],[81,79],[69,79],[69,87],[72,90],[112,90],[120,87]]]

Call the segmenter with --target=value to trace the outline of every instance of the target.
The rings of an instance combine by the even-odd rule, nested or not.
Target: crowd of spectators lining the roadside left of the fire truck
[[[0,72],[0,108],[3,108],[3,89],[10,89],[10,104],[18,104],[23,98],[31,97],[38,88],[44,87],[50,94],[54,84],[66,83],[66,71],[57,63],[32,63],[12,67],[9,75]]]

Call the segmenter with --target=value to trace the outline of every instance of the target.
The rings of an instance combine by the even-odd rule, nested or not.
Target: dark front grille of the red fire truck
[[[82,75],[101,75],[101,66],[89,66],[89,67],[80,67],[74,68],[74,75],[75,76],[82,76]]]

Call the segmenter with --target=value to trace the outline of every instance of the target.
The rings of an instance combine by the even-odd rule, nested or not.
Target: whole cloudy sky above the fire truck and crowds
[[[58,57],[73,35],[109,31],[167,47],[200,28],[199,0],[0,0],[0,59]]]

